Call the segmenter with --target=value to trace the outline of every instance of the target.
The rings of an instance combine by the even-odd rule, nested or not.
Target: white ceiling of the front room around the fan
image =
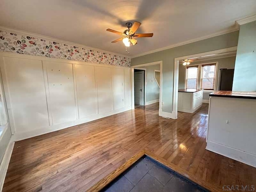
[[[128,21],[142,23],[134,56],[221,31],[256,14],[256,0],[1,0],[0,25],[127,55],[120,38]]]

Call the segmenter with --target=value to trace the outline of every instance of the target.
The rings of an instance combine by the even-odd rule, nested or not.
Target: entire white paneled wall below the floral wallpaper
[[[0,53],[16,140],[131,109],[130,68]]]

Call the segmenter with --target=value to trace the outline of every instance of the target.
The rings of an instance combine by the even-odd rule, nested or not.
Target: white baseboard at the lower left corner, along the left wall
[[[13,136],[11,136],[10,141],[8,143],[8,146],[6,148],[6,151],[4,152],[4,157],[2,159],[2,162],[0,164],[0,192],[2,192],[3,186],[4,186],[4,179],[7,173],[7,169],[9,166],[9,162],[12,156],[12,150],[14,148],[14,140]]]

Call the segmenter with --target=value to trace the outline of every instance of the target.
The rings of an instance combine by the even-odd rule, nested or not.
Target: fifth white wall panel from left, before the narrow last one
[[[124,108],[124,70],[112,68],[112,94],[114,110]]]

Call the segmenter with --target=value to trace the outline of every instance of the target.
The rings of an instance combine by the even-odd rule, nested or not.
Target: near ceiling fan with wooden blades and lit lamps
[[[118,32],[112,29],[107,29],[107,31],[112,32],[112,33],[116,33],[119,35],[122,35],[122,38],[119,38],[117,40],[112,41],[112,43],[116,43],[118,41],[123,41],[124,45],[126,47],[130,46],[130,43],[132,43],[132,45],[136,45],[137,44],[137,40],[135,38],[139,38],[139,37],[152,37],[153,33],[139,33],[139,34],[135,34],[135,32],[138,30],[138,28],[140,27],[141,23],[138,21],[135,21],[132,25],[132,23],[128,22],[126,23],[126,26],[128,27],[128,29],[124,30],[124,32]]]

